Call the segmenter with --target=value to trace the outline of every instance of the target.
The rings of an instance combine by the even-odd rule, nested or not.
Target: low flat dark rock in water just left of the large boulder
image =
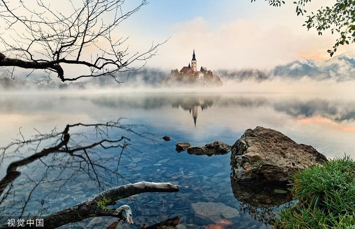
[[[195,154],[195,155],[212,156],[212,155],[226,154],[230,150],[231,150],[230,145],[223,142],[216,141],[216,142],[208,143],[205,146],[190,147],[187,149],[187,152],[189,154]]]

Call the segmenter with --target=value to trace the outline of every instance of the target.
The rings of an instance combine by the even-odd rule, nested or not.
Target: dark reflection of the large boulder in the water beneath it
[[[277,209],[292,199],[290,192],[275,192],[275,189],[287,190],[285,184],[237,183],[231,177],[231,186],[234,197],[241,204],[240,210],[269,224],[276,219]]]

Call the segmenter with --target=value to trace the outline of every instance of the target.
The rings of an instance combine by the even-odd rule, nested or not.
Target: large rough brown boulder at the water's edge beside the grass
[[[237,182],[288,182],[300,169],[327,161],[312,146],[297,144],[261,126],[247,129],[232,146],[232,176]]]

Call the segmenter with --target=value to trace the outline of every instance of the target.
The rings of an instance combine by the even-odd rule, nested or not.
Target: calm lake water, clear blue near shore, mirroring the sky
[[[179,228],[271,227],[270,219],[286,202],[278,201],[282,194],[272,188],[259,191],[234,184],[230,179],[230,153],[211,157],[177,153],[176,142],[201,146],[219,140],[232,145],[245,129],[264,126],[298,143],[312,145],[327,157],[344,153],[355,157],[355,99],[317,94],[4,94],[0,97],[0,146],[22,138],[19,128],[25,138],[30,138],[50,133],[54,127],[62,131],[66,124],[105,123],[120,117],[127,118],[123,124],[138,124],[132,129],[149,135],[142,138],[122,130],[108,130],[113,139],[124,135],[131,141],[121,159],[120,149],[116,148],[89,152],[96,162],[119,173],[115,177],[107,170],[96,171],[102,187],[146,180],[178,184],[180,191],[143,193],[119,201],[116,206],[130,205],[135,223],[118,227],[148,227],[168,219],[179,220]],[[79,127],[75,132],[85,135],[72,135],[80,144],[97,140],[93,128]],[[171,141],[161,140],[165,135]],[[41,143],[41,147],[49,143],[51,140]],[[5,176],[11,161],[28,155],[34,148],[26,145],[18,152],[9,151],[0,166],[0,177]],[[1,196],[0,215],[46,215],[93,197],[99,192],[95,177],[76,168],[78,164],[65,156],[49,156],[22,167],[11,190],[8,188]],[[265,201],[269,199],[275,203]],[[218,203],[219,211],[228,206],[239,214],[203,217],[192,208],[197,202]],[[62,228],[106,228],[115,221],[110,217],[90,218]]]

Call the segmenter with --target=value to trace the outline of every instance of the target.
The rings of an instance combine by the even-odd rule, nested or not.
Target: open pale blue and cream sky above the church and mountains
[[[152,41],[161,42],[159,55],[147,66],[180,69],[191,61],[195,49],[198,68],[270,69],[299,58],[328,59],[328,49],[336,36],[330,31],[318,36],[315,29],[302,26],[305,17],[297,16],[293,1],[274,8],[263,0],[152,0],[124,22],[121,31],[130,36],[132,50],[144,50]],[[308,12],[333,0],[314,1]],[[139,1],[126,1],[129,9]],[[355,50],[355,45],[340,47],[337,54]]]

